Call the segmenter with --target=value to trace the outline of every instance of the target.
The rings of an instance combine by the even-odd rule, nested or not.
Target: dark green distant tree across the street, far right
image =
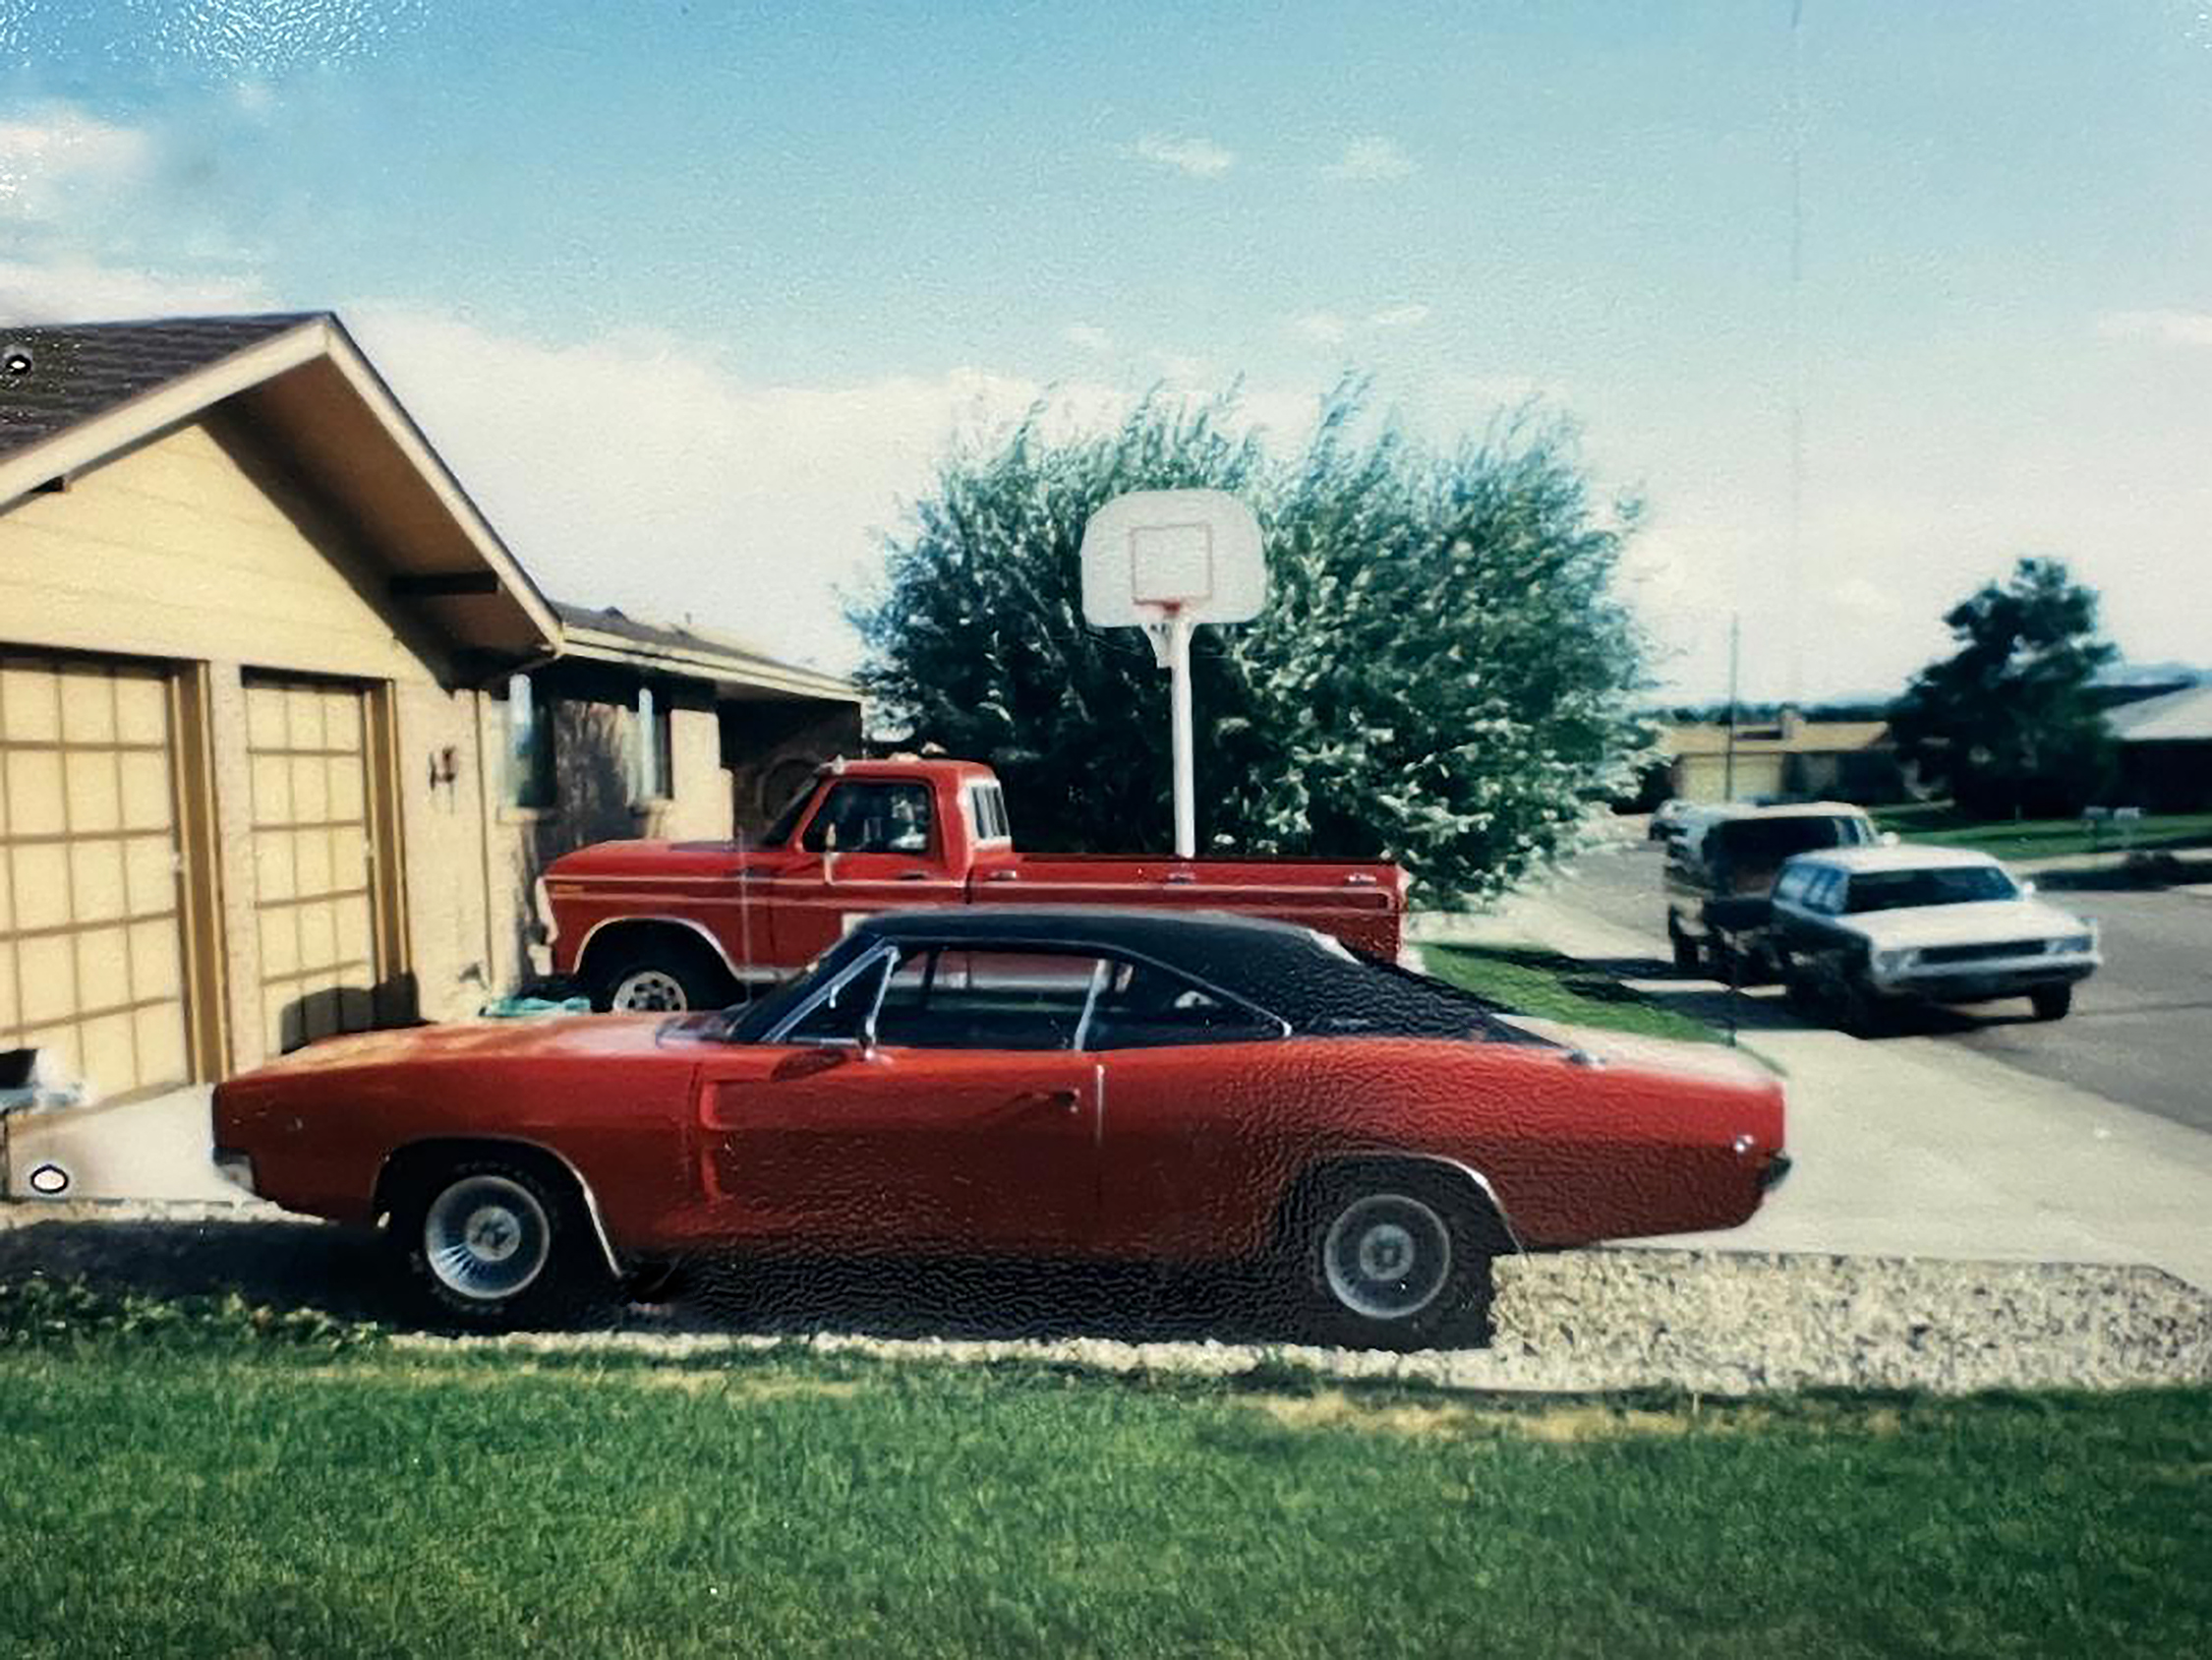
[[[1944,615],[1960,649],[1922,668],[1889,730],[1924,784],[1978,817],[2079,812],[2112,739],[2090,684],[2115,657],[2097,593],[2059,560],[2020,560]]]

